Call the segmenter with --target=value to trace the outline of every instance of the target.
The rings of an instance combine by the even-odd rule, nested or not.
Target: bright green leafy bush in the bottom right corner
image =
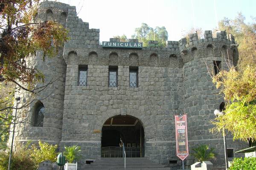
[[[256,158],[235,158],[229,170],[256,170]]]

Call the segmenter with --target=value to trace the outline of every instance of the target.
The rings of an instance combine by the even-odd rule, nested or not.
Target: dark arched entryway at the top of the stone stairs
[[[144,128],[133,116],[113,116],[102,127],[102,157],[144,157]]]

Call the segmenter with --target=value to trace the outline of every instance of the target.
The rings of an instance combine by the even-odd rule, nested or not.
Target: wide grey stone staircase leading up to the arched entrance
[[[79,170],[170,170],[162,164],[157,164],[146,158],[101,158],[91,164],[82,165]]]

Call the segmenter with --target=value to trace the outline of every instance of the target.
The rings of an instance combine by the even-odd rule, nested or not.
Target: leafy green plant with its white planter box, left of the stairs
[[[66,156],[67,163],[65,164],[65,170],[77,170],[77,161],[81,159],[81,147],[69,146],[64,147],[64,156]]]

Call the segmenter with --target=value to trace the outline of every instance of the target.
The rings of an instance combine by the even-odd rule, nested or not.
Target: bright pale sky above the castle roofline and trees
[[[76,6],[79,18],[100,29],[100,41],[134,34],[141,23],[165,26],[169,41],[178,41],[191,28],[213,30],[224,17],[238,12],[246,23],[256,17],[256,0],[55,0]]]

